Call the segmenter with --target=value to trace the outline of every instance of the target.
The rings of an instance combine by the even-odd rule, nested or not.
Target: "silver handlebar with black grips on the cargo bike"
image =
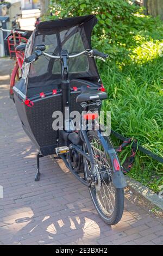
[[[99,51],[97,51],[95,49],[94,50],[87,49],[87,50],[84,50],[84,51],[79,52],[77,54],[68,55],[68,58],[70,58],[70,59],[71,58],[75,58],[75,57],[78,57],[78,56],[80,56],[80,55],[82,55],[84,53],[86,53],[89,57],[99,58],[99,59],[101,59],[103,61],[105,61],[105,59],[109,57],[108,54],[99,52]],[[38,57],[40,57],[42,54],[44,56],[52,58],[52,59],[61,59],[62,58],[61,56],[54,56],[54,55],[48,54],[46,52],[42,52],[41,50],[36,50],[34,54],[32,54],[31,56],[29,56],[26,59],[24,59],[24,62],[26,62],[26,63],[35,62],[38,59]]]

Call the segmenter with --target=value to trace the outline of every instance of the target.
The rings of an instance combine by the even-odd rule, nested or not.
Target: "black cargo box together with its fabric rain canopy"
[[[45,44],[45,52],[57,55],[61,49],[69,54],[90,49],[91,32],[96,22],[93,15],[41,22],[27,42],[25,57],[33,54],[38,44]],[[71,90],[70,111],[81,113],[83,108],[76,102],[80,87],[101,87],[95,60],[86,54],[69,59],[68,72],[71,87],[78,88]],[[41,56],[32,64],[23,64],[22,79],[15,85],[21,92],[14,90],[14,98],[23,129],[42,155],[54,154],[58,139],[60,145],[58,131],[53,130],[52,124],[53,112],[62,111],[61,79],[60,60]],[[57,94],[52,95],[53,89],[58,89]],[[46,97],[41,98],[41,92]],[[26,96],[34,103],[33,107],[22,104],[22,97]]]

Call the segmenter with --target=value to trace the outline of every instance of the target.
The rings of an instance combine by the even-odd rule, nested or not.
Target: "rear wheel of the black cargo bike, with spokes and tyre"
[[[96,131],[87,132],[91,143],[95,170],[96,185],[89,188],[91,198],[95,208],[103,219],[109,225],[114,225],[121,220],[124,209],[124,190],[115,188],[112,183],[112,164],[108,153],[105,152],[101,140]],[[109,138],[104,137],[105,143],[109,144],[109,149],[113,149]],[[87,153],[86,144],[83,144],[83,150]],[[85,178],[91,175],[91,166],[89,161],[83,159]]]

